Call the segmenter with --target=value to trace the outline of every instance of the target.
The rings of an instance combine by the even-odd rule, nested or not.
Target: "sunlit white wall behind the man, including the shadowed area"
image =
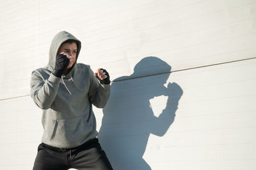
[[[116,80],[95,108],[114,169],[256,168],[255,0],[0,6],[0,169],[33,167],[43,129],[30,75],[62,30],[81,40],[78,62]]]

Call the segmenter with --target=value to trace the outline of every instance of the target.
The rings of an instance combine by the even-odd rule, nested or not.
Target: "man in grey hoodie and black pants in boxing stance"
[[[54,36],[49,63],[31,74],[31,97],[43,111],[44,134],[34,170],[113,169],[97,139],[92,110],[110,94],[109,74],[77,63],[81,42],[66,31]]]

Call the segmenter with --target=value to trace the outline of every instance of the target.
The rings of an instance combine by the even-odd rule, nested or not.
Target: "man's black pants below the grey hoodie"
[[[98,139],[92,139],[77,148],[67,150],[54,148],[44,143],[38,146],[33,170],[65,170],[70,168],[79,170],[113,169]]]

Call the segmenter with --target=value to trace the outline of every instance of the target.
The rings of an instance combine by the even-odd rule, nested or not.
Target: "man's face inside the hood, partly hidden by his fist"
[[[67,69],[71,68],[72,65],[76,62],[76,54],[77,54],[77,45],[76,43],[63,43],[58,50],[58,55],[63,54],[69,58],[69,64]]]

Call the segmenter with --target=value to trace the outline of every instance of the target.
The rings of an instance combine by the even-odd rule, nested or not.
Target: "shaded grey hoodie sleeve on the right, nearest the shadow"
[[[89,68],[90,74],[90,88],[89,98],[93,105],[98,108],[103,108],[110,95],[110,84],[100,84],[98,79],[94,76],[91,68]]]

